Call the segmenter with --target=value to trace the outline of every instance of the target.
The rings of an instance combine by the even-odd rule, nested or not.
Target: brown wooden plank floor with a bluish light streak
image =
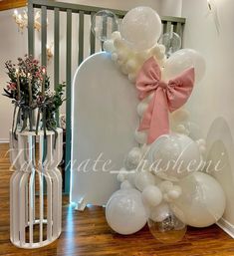
[[[9,240],[9,158],[7,144],[0,144],[0,255],[134,255],[134,256],[234,256],[234,240],[216,225],[204,229],[189,228],[183,241],[175,245],[157,242],[145,226],[136,234],[120,236],[113,232],[102,207],[89,207],[78,212],[63,202],[63,231],[53,244],[24,250]]]

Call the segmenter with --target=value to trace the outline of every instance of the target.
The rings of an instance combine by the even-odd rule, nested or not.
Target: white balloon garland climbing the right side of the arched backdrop
[[[120,32],[115,31],[104,42],[104,49],[132,83],[143,63],[152,56],[164,81],[193,67],[195,82],[199,82],[205,73],[203,57],[195,50],[181,49],[167,58],[165,47],[157,43],[161,27],[154,10],[136,7],[124,16]],[[151,98],[149,95],[139,102],[136,110],[139,119]],[[171,132],[149,145],[147,131],[135,129],[139,147],[133,147],[125,156],[124,167],[117,175],[120,189],[106,207],[108,223],[117,233],[134,233],[148,222],[156,238],[174,242],[185,234],[186,225],[205,227],[222,216],[224,192],[212,176],[200,171],[205,140],[199,127],[189,119],[190,114],[184,108],[174,112],[170,116]],[[162,231],[173,239],[161,238]]]

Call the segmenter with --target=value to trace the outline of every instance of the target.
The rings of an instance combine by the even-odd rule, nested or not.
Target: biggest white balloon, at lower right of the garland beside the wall
[[[212,176],[195,172],[179,183],[182,194],[170,206],[184,223],[206,227],[217,222],[225,210],[225,194]]]

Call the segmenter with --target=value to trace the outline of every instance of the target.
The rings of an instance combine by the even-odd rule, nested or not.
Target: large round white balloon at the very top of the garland
[[[139,51],[149,49],[160,37],[160,17],[150,7],[135,7],[122,19],[120,34],[130,48]]]

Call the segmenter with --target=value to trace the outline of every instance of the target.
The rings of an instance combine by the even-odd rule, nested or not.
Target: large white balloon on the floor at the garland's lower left
[[[117,190],[106,207],[106,218],[117,233],[128,235],[140,230],[147,221],[147,212],[136,189]]]

